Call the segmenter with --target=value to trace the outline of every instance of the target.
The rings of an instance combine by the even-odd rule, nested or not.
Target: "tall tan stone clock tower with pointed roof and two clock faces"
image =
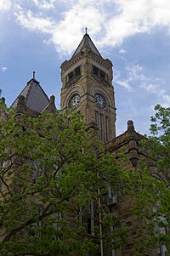
[[[116,107],[111,60],[103,59],[88,33],[71,60],[61,65],[61,111],[76,109],[105,143],[116,137]]]

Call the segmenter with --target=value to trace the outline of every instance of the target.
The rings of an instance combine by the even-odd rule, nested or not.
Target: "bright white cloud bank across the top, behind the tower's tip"
[[[11,3],[0,0],[0,10],[11,6],[21,26],[48,33],[49,40],[62,53],[71,53],[86,26],[101,48],[116,46],[125,38],[150,32],[156,26],[164,26],[170,31],[169,0],[29,0],[40,9],[38,14],[37,9],[26,8],[25,3],[23,0]],[[17,4],[23,9],[18,9]],[[47,10],[55,10],[55,20],[52,19],[54,13]],[[125,54],[123,51],[121,54]]]

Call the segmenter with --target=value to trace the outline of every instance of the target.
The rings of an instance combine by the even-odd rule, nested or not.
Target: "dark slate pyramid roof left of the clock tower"
[[[40,83],[35,78],[27,82],[20,95],[25,97],[26,107],[38,113],[41,113],[49,104],[47,94],[45,94]],[[15,108],[17,106],[19,96],[14,100],[14,103],[11,105],[12,107]]]

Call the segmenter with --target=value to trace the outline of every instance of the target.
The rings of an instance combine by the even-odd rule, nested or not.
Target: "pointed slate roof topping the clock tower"
[[[89,37],[89,35],[86,33],[83,37],[82,37],[82,41],[81,43],[78,45],[76,51],[74,52],[74,54],[72,55],[72,58],[79,54],[82,50],[82,48],[84,48],[85,46],[87,46],[88,48],[91,49],[92,52],[94,52],[95,54],[98,54],[99,56],[101,56],[99,54],[99,50],[95,47],[92,39]]]

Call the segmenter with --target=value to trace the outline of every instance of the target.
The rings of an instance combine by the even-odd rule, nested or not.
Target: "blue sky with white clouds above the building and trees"
[[[59,109],[60,65],[85,27],[113,63],[116,134],[127,120],[148,134],[154,106],[170,106],[169,0],[0,0],[0,88],[7,105],[36,71]]]

